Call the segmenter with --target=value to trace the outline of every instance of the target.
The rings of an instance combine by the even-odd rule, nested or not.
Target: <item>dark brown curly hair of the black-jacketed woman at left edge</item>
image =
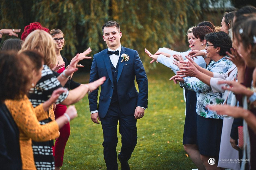
[[[32,62],[15,51],[0,53],[0,101],[19,100],[31,86]]]

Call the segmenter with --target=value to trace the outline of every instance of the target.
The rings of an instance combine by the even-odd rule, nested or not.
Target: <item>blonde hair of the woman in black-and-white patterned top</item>
[[[36,50],[44,59],[44,64],[53,68],[56,63],[56,44],[51,35],[43,30],[35,30],[25,39],[21,51]]]

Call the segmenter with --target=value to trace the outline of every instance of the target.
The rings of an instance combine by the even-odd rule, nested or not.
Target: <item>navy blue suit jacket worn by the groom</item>
[[[122,54],[128,54],[130,59],[121,62]],[[108,111],[111,98],[113,95],[113,77],[111,71],[111,61],[108,56],[108,49],[105,49],[93,56],[93,62],[90,72],[90,82],[93,82],[103,76],[106,76],[106,81],[101,85],[98,107],[98,90],[92,91],[89,94],[90,111],[98,110],[99,117],[105,117]],[[117,74],[117,95],[121,111],[124,115],[133,115],[136,106],[144,108],[148,107],[148,79],[142,62],[137,51],[123,47],[118,60]],[[135,87],[136,82],[139,87],[139,92]]]

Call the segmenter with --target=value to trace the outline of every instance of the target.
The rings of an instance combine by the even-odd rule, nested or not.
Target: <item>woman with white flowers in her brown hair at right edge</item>
[[[238,18],[237,18],[238,20]],[[234,42],[237,46],[237,50],[238,52],[243,56],[243,59],[245,60],[245,65],[248,66],[249,68],[255,68],[256,66],[256,62],[255,62],[255,56],[256,56],[256,31],[254,29],[254,26],[256,24],[256,18],[251,18],[248,19],[246,21],[242,21],[242,22],[237,22],[234,24],[233,27],[233,38],[234,38]],[[254,89],[255,89],[255,81],[256,81],[256,75],[255,75],[255,69],[254,69],[254,73],[253,73],[253,81],[251,82],[252,86],[251,86],[251,91],[246,89],[246,86],[240,85],[238,83],[235,82],[220,82],[220,83],[227,83],[228,85],[231,85],[231,87],[233,88],[224,88],[227,90],[231,90],[236,94],[242,94],[242,95],[246,95],[249,98],[250,103],[249,104],[255,104],[255,100],[254,100]],[[215,110],[214,107],[211,108],[212,110]],[[218,110],[220,110],[220,108],[218,108]],[[232,109],[232,111],[234,110],[234,108]],[[253,106],[249,107],[249,110],[256,115],[256,109]],[[239,110],[240,111],[240,110]],[[222,113],[224,113],[223,111],[221,111]],[[236,114],[237,111],[234,112],[234,114]],[[248,112],[246,112],[247,114]],[[250,116],[251,117],[251,116]],[[248,119],[247,119],[248,120]],[[250,121],[249,121],[250,122]],[[251,122],[250,122],[251,124]],[[249,125],[251,126],[251,125]],[[252,126],[254,127],[254,126]],[[248,131],[249,131],[249,140],[250,140],[250,165],[251,165],[251,169],[255,169],[256,164],[256,156],[254,155],[254,153],[256,152],[256,147],[254,145],[254,143],[256,142],[256,135],[255,132],[253,131],[253,129],[248,127]],[[248,152],[248,151],[247,151]]]

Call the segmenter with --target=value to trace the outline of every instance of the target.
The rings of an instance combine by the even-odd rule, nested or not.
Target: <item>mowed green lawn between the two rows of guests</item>
[[[196,168],[186,156],[182,145],[185,102],[182,88],[169,81],[173,74],[161,64],[147,73],[148,109],[145,116],[137,121],[138,140],[129,160],[131,169]],[[89,74],[77,74],[74,79],[86,83]],[[71,135],[61,169],[106,169],[102,127],[90,118],[88,97],[84,97],[75,106],[78,117],[70,124]],[[117,153],[121,149],[119,133],[118,141]],[[121,169],[119,161],[118,168]]]

